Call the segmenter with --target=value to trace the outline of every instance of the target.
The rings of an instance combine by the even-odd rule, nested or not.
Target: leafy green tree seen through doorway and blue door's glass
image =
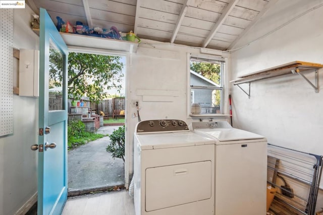
[[[121,57],[70,52],[68,60],[68,94],[70,98],[89,97],[99,102],[107,97],[106,90],[122,87],[123,63]],[[62,56],[58,51],[50,52],[49,76],[52,83],[62,83]]]

